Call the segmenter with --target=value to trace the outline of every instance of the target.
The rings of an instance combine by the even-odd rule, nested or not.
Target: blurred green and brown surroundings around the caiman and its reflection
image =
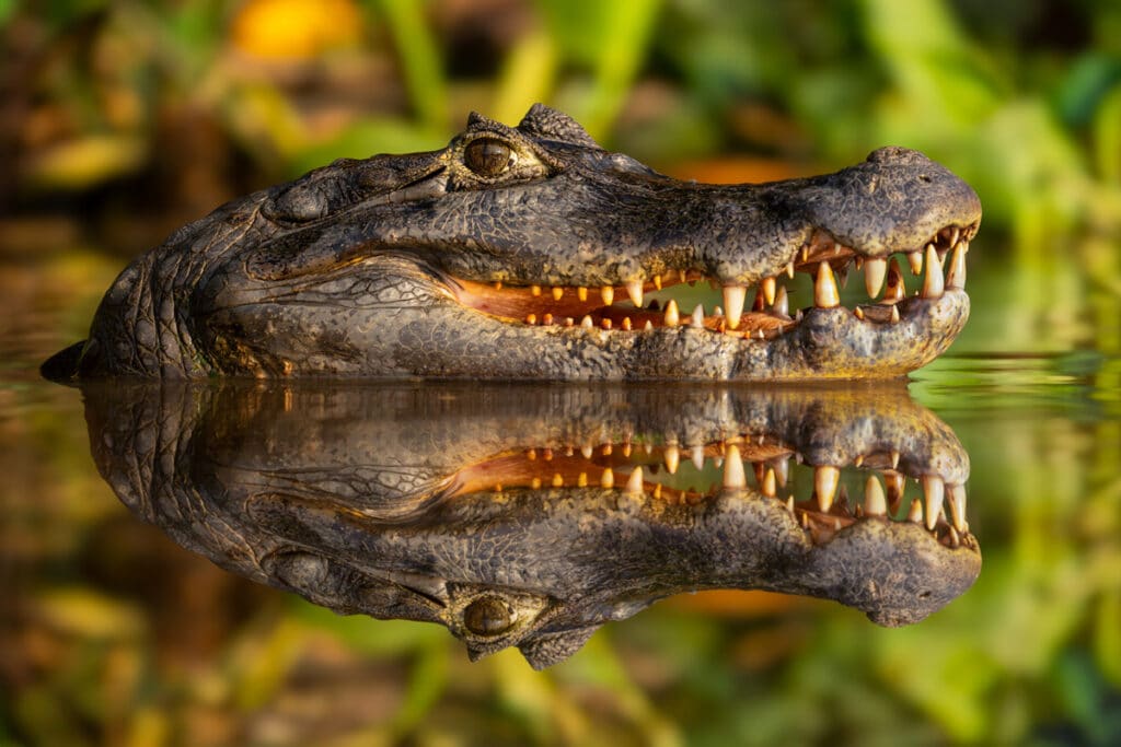
[[[0,744],[1118,744],[1121,4],[0,0]],[[136,523],[37,363],[132,255],[337,157],[543,101],[683,178],[924,150],[981,194],[912,393],[985,570],[927,624],[708,594],[537,674],[340,618]]]

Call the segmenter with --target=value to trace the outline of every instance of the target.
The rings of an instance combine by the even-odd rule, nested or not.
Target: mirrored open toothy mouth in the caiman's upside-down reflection
[[[620,499],[696,505],[726,491],[753,489],[781,503],[815,545],[856,522],[890,520],[925,526],[947,548],[976,550],[965,519],[965,486],[909,474],[907,461],[898,451],[876,451],[849,465],[812,465],[796,449],[751,435],[694,446],[624,440],[493,455],[450,476],[441,497],[491,492],[501,499],[524,489],[599,486]],[[921,496],[907,498],[908,479],[921,486]],[[851,502],[849,484],[860,486],[862,501]]]

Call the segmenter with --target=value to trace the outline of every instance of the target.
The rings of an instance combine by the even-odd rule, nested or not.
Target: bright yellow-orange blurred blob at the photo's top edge
[[[230,35],[238,49],[254,57],[305,59],[354,44],[361,26],[353,0],[249,0]]]

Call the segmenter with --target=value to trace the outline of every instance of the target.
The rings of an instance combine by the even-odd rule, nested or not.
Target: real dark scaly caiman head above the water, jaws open
[[[965,323],[980,220],[966,184],[902,148],[714,186],[603,150],[545,106],[517,128],[472,115],[444,150],[337,161],[176,232],[44,373],[895,376]],[[911,297],[893,252],[925,263]],[[849,309],[835,273],[853,263],[873,300]],[[797,272],[814,304],[791,311]],[[723,289],[722,309],[649,302],[697,280]]]

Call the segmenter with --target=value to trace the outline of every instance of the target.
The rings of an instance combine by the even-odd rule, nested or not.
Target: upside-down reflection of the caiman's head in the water
[[[518,646],[546,666],[606,620],[705,588],[900,625],[981,566],[967,457],[902,387],[85,394],[102,474],[180,544],[340,611],[442,623],[472,657]]]

